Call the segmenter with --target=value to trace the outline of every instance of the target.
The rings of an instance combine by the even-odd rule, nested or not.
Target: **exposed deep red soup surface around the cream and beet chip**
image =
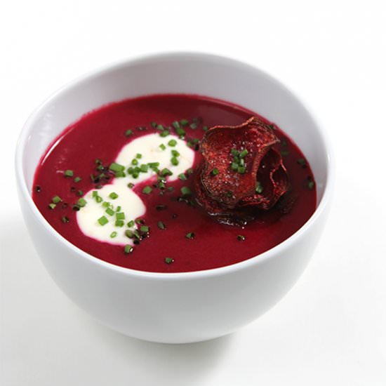
[[[305,224],[315,210],[316,192],[305,156],[274,126],[281,140],[276,147],[291,183],[290,191],[276,206],[261,211],[255,220],[244,225],[226,225],[197,205],[193,179],[194,169],[201,161],[199,140],[211,126],[237,126],[251,116],[258,115],[229,102],[197,95],[150,95],[101,107],[66,128],[48,147],[36,169],[32,197],[62,237],[95,258],[120,267],[147,272],[189,272],[253,258],[277,246]],[[173,125],[176,121],[178,124]],[[124,245],[98,241],[81,232],[76,210],[82,208],[76,204],[91,189],[112,183],[114,175],[109,173],[108,166],[117,159],[122,147],[143,135],[161,134],[165,129],[175,134],[176,127],[182,128],[178,133],[194,149],[192,171],[185,173],[186,180],[166,182],[166,186],[159,187],[155,176],[150,182],[128,187],[146,206],[138,227],[146,226],[148,232],[142,234],[139,242],[135,241],[138,244],[132,250],[126,248],[125,253]],[[174,137],[161,137],[166,142],[169,138]],[[152,192],[142,192],[145,186],[151,186]],[[179,198],[182,187],[192,191],[188,199]],[[61,201],[53,199],[56,196]]]

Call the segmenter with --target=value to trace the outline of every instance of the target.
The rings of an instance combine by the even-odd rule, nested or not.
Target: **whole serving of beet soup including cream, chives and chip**
[[[260,158],[260,145],[229,145],[241,130],[258,133],[245,123],[251,117],[265,130]],[[240,182],[229,189],[233,176]],[[257,199],[244,197],[251,183]],[[290,237],[316,208],[310,166],[284,131],[243,107],[197,95],[149,95],[84,115],[46,150],[32,198],[74,246],[147,272],[247,260]]]

